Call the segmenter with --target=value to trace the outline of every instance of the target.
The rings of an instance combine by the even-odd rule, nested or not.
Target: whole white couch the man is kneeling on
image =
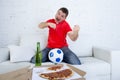
[[[0,74],[34,65],[29,61],[35,54],[36,42],[38,41],[41,43],[41,49],[45,48],[47,35],[22,35],[18,46],[9,45],[8,48],[0,48]],[[120,65],[118,65],[120,51],[101,47],[81,50],[79,42],[71,42],[68,39],[68,43],[70,49],[76,53],[82,63],[74,66],[87,73],[86,80],[120,80]]]

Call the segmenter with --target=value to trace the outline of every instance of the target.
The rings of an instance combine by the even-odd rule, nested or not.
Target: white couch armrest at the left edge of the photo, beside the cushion
[[[0,48],[0,63],[9,59],[9,49]]]

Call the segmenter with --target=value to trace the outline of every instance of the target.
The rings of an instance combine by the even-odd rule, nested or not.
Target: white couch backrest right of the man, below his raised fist
[[[67,41],[69,44],[69,48],[77,56],[80,56],[80,57],[92,56],[92,45],[90,41],[86,41],[86,36],[84,36],[84,38],[80,36],[76,41],[71,41],[70,38],[67,37]]]

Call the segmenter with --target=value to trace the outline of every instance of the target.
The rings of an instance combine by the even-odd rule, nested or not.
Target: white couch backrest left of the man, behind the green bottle
[[[43,34],[26,34],[20,37],[20,46],[30,46],[36,50],[36,44],[40,42],[41,50],[46,47],[47,35]]]

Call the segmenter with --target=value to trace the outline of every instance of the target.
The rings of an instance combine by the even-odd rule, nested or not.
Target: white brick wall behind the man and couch
[[[79,24],[82,50],[93,45],[120,48],[119,0],[0,0],[0,47],[18,44],[19,35],[46,33],[38,24],[53,18],[60,7],[69,9],[71,27]]]

